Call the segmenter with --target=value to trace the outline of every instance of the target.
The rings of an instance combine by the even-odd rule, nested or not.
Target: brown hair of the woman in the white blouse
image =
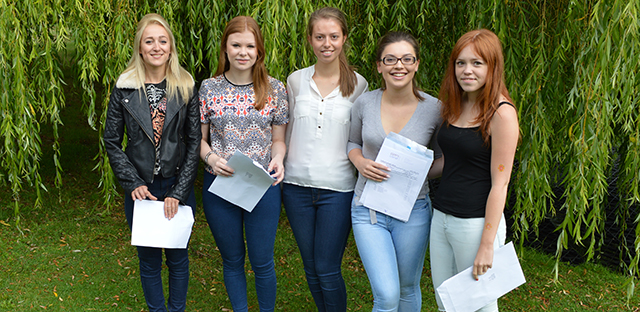
[[[347,27],[347,18],[344,13],[339,9],[326,7],[320,10],[317,10],[311,13],[311,17],[309,17],[309,23],[307,24],[307,38],[311,38],[313,36],[313,27],[316,22],[322,19],[332,19],[340,25],[340,29],[342,30],[342,35],[345,36],[348,40],[347,35],[349,34],[349,28]],[[344,46],[342,47],[342,51],[338,56],[340,60],[340,92],[342,96],[348,97],[356,89],[356,73],[353,71],[353,67],[349,65],[347,61],[347,54],[345,50],[348,48],[347,41],[345,41]]]

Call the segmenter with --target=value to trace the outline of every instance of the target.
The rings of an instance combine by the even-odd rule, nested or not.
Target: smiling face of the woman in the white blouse
[[[347,37],[342,33],[342,28],[337,21],[323,18],[314,23],[313,32],[307,40],[309,40],[318,62],[332,63],[338,60]]]

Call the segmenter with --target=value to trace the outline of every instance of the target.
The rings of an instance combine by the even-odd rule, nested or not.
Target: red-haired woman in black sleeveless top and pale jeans
[[[444,167],[430,235],[434,288],[470,266],[478,280],[505,241],[502,212],[519,127],[503,72],[502,46],[493,32],[473,30],[458,39],[440,88]],[[436,299],[444,311],[437,292]],[[480,311],[498,311],[497,301]]]

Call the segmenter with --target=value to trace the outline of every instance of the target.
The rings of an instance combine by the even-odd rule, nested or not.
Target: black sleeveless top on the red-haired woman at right
[[[509,102],[502,104],[512,105]],[[438,145],[444,168],[433,207],[457,218],[484,218],[491,190],[491,146],[480,127],[440,127]]]

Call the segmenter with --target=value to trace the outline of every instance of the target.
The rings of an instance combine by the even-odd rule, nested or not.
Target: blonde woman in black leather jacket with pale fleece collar
[[[164,201],[173,218],[178,204],[196,201],[200,114],[191,75],[178,62],[167,21],[147,14],[138,23],[129,66],[111,93],[104,142],[109,163],[125,191],[129,228],[135,200]],[[122,150],[125,129],[127,147]],[[167,311],[162,291],[162,248],[137,247],[140,281],[149,311]],[[187,249],[164,249],[169,269],[169,311],[184,311],[189,285]]]

